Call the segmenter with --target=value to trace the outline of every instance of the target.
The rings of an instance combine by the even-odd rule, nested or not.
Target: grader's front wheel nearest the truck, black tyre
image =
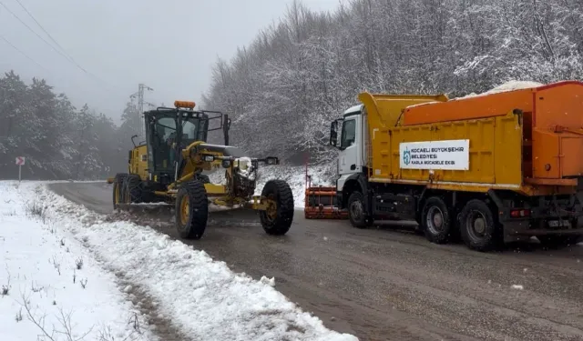
[[[261,226],[268,235],[285,235],[293,222],[292,188],[283,180],[270,180],[261,191],[261,196],[270,199],[268,208],[260,211]]]

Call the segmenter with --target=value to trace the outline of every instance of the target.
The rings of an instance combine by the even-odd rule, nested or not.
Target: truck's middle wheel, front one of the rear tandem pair
[[[452,236],[454,224],[444,200],[439,196],[427,199],[421,216],[425,238],[435,244],[447,244]]]

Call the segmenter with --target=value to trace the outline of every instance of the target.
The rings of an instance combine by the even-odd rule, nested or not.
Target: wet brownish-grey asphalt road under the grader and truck
[[[52,189],[112,212],[107,184]],[[177,237],[170,218],[153,226]],[[339,332],[361,340],[583,340],[583,246],[543,250],[534,241],[485,254],[430,244],[411,225],[359,230],[296,211],[280,237],[257,221],[217,212],[202,239],[184,242],[234,271],[275,276],[283,295]]]

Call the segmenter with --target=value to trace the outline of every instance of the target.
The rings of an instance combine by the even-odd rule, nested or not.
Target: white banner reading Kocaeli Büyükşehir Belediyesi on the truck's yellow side
[[[403,142],[399,145],[403,169],[470,169],[470,140]]]

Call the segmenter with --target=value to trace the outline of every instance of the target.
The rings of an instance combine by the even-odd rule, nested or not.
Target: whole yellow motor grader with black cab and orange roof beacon
[[[144,113],[146,141],[129,151],[128,173],[108,178],[113,206],[166,202],[175,206],[182,238],[199,239],[207,226],[210,203],[247,207],[259,212],[270,235],[284,235],[292,226],[293,194],[283,180],[266,183],[255,196],[259,164],[277,165],[277,157],[251,158],[229,145],[230,119],[217,111],[194,110],[194,102],[176,101],[174,108]],[[216,123],[210,128],[210,123]],[[225,145],[210,145],[210,131],[222,130]],[[132,143],[136,135],[132,136]],[[212,184],[203,171],[225,170],[225,181]]]

